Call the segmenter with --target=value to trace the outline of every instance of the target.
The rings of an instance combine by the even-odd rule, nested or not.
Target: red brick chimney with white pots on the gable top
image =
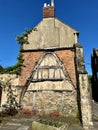
[[[53,18],[55,17],[54,4],[44,4],[43,7],[43,18]]]

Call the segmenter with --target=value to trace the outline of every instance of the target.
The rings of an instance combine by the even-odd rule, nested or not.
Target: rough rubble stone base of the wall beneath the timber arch
[[[35,110],[39,115],[58,112],[61,116],[78,115],[77,94],[75,91],[27,91],[22,100],[24,109]]]

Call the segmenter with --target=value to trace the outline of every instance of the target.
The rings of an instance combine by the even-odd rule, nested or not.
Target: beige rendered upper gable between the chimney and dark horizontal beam
[[[56,18],[43,19],[28,35],[29,44],[23,49],[45,49],[73,47],[76,43],[76,30]]]

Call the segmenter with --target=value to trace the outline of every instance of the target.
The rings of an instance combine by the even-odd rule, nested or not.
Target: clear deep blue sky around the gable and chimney
[[[16,36],[42,20],[44,3],[51,0],[0,0],[0,65],[17,62],[20,46]],[[86,70],[92,74],[91,54],[98,48],[98,0],[55,0],[55,15],[79,32]]]

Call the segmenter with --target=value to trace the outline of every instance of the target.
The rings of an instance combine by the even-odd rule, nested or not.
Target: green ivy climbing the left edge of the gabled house
[[[23,50],[23,44],[29,44],[28,34],[30,34],[32,31],[37,31],[37,28],[27,29],[25,32],[22,33],[22,35],[16,37],[17,42],[20,44],[20,53],[17,57],[18,62],[14,66],[4,68],[0,72],[0,74],[17,74],[17,75],[20,75],[21,68],[23,66],[23,55],[22,55],[21,51]]]

